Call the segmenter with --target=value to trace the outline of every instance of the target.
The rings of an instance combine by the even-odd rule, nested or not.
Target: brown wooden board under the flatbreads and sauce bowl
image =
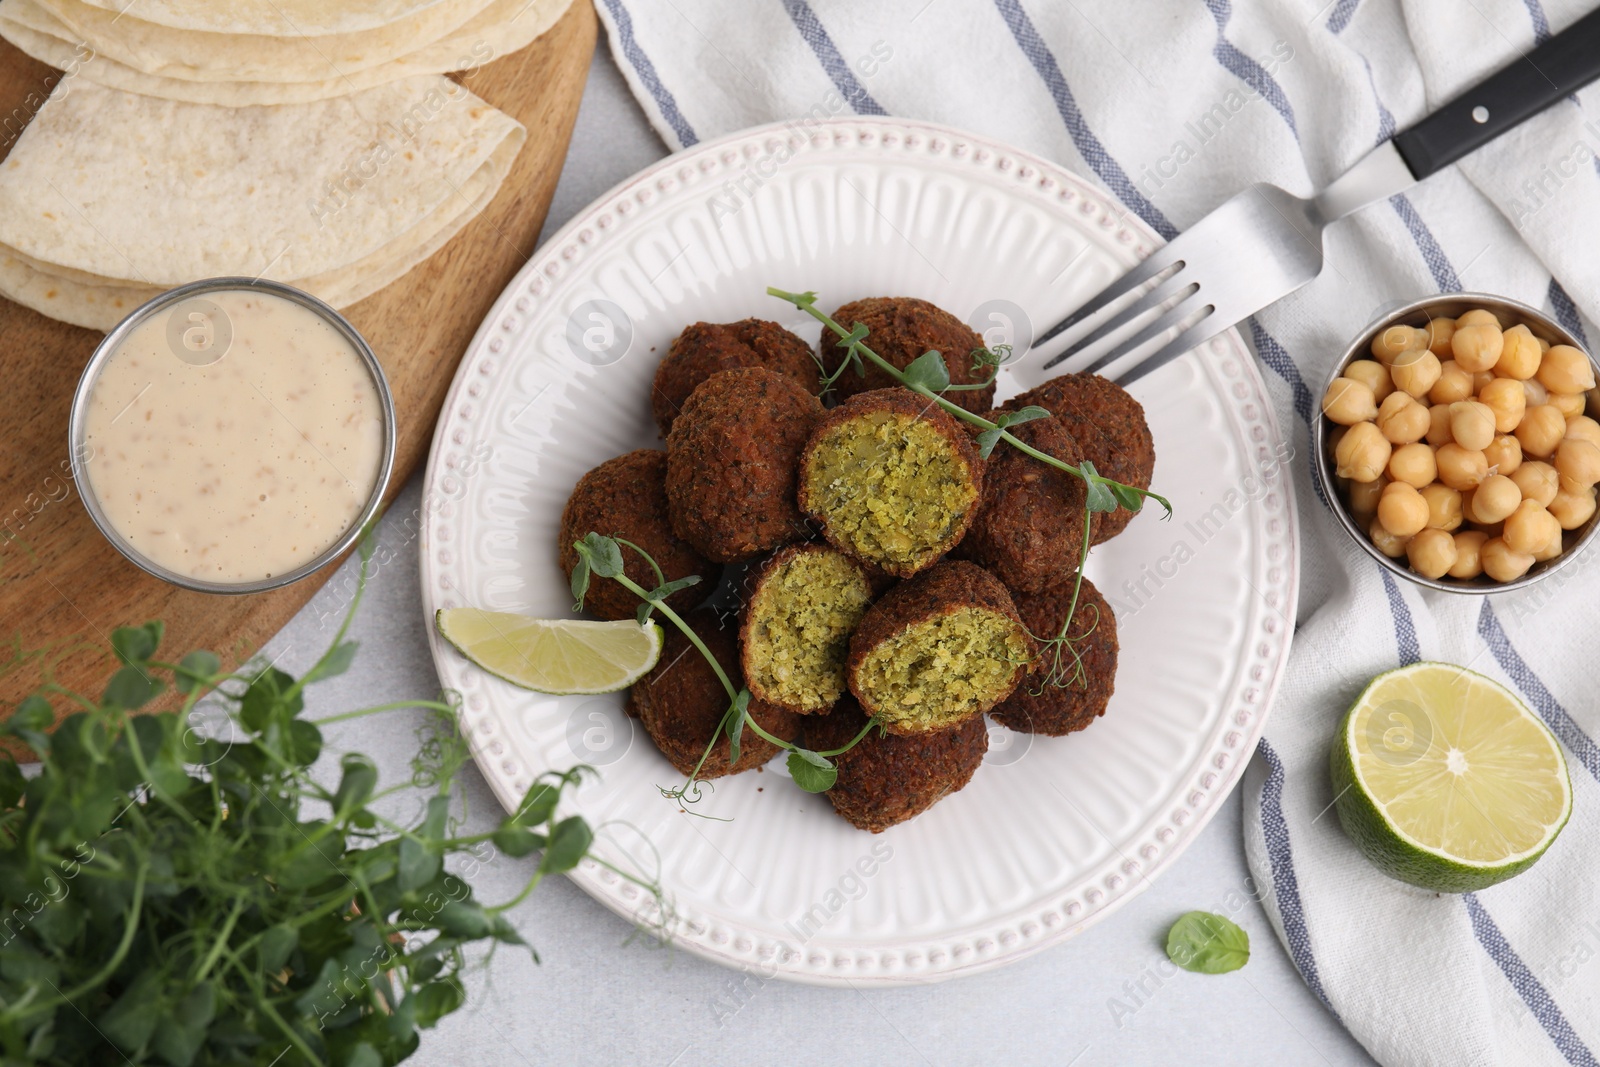
[[[589,0],[528,48],[472,72],[467,86],[528,128],[499,195],[427,262],[346,309],[384,365],[398,414],[389,496],[427,454],[467,342],[533,254],[578,117],[595,45]],[[61,74],[0,40],[0,155]],[[194,593],[150,577],[99,534],[67,467],[67,410],[101,334],[0,298],[0,715],[48,672],[99,696],[118,625],[166,622],[165,653],[210,648],[248,659],[336,568],[245,597]]]

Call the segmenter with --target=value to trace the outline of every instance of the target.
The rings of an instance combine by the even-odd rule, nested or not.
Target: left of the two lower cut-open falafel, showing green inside
[[[872,603],[861,565],[826,544],[779,549],[750,581],[739,632],[750,696],[810,715],[845,694],[850,635]]]

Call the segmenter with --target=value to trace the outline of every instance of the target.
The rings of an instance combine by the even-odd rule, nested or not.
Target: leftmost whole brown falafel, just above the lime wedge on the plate
[[[562,530],[557,539],[557,561],[568,576],[578,566],[574,541],[587,533],[606,537],[624,537],[648,552],[667,581],[699,574],[698,585],[680,589],[667,597],[675,611],[688,611],[706,600],[722,581],[722,566],[696,552],[686,541],[672,533],[667,518],[667,454],[654,448],[640,448],[608,459],[573,486],[562,509]],[[637,552],[624,547],[626,573],[645,589],[656,587],[656,573]],[[584,609],[600,619],[632,619],[638,609],[638,597],[618,582],[597,577],[589,582]]]

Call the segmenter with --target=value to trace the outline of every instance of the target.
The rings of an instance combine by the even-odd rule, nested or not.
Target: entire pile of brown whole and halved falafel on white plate
[[[845,304],[866,344],[898,368],[942,354],[954,386],[989,368],[982,339],[914,298]],[[819,360],[778,323],[694,323],[656,371],[651,410],[666,451],[638,450],[586,474],[562,514],[558,561],[584,534],[645,549],[667,581],[701,576],[667,603],[717,656],[770,734],[827,752],[877,715],[886,733],[834,757],[834,808],[874,833],[926,811],[971,781],[989,747],[984,713],[1011,729],[1067,734],[1102,715],[1117,673],[1117,622],[1083,579],[1067,635],[1085,536],[1101,544],[1131,514],[1094,514],[1083,483],[1000,445],[984,459],[976,429],[878,368],[846,370],[818,398],[845,349],[824,330]],[[821,371],[821,373],[819,373]],[[1144,410],[1120,386],[1062,374],[998,410],[994,386],[947,397],[994,416],[1040,406],[1011,432],[1069,464],[1149,488],[1155,446]],[[656,584],[626,552],[627,574]],[[749,565],[734,608],[706,605],[725,566]],[[726,592],[714,603],[728,600]],[[632,617],[638,601],[590,584],[586,608]],[[672,765],[693,773],[728,707],[710,665],[675,627],[627,710]],[[778,747],[744,731],[738,763],[717,741],[699,777],[738,774]]]

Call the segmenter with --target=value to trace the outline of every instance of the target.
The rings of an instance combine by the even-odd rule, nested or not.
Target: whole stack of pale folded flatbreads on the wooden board
[[[443,72],[570,3],[0,0],[0,37],[69,72],[0,165],[0,294],[93,330],[218,275],[354,304],[477,216],[526,138]]]

